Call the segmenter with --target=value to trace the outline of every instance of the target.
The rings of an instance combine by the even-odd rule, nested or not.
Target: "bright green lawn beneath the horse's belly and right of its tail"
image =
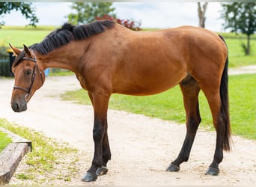
[[[256,140],[256,75],[229,76],[229,99],[231,126],[234,135]],[[63,99],[73,100],[79,104],[91,105],[85,91],[68,91]],[[201,126],[213,130],[212,116],[204,94],[199,95]],[[113,94],[109,108],[144,114],[163,120],[174,120],[185,123],[185,110],[180,88],[177,86],[169,91],[153,96],[125,96]]]

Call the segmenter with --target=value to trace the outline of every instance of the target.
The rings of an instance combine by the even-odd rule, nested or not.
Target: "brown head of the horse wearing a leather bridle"
[[[10,104],[13,111],[21,112],[27,109],[31,96],[43,85],[45,75],[32,49],[28,49],[25,45],[24,50],[16,49],[11,45],[10,47],[16,55],[12,67],[15,82]]]

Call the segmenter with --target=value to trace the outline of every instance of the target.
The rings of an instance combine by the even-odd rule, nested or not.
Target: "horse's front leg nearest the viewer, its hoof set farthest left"
[[[103,163],[103,151],[108,150],[109,147],[105,147],[107,138],[107,111],[109,105],[109,96],[103,94],[92,94],[94,101],[94,159],[91,164],[91,168],[88,169],[82,181],[90,182],[97,180],[97,170],[106,165]],[[108,142],[109,143],[109,142]]]

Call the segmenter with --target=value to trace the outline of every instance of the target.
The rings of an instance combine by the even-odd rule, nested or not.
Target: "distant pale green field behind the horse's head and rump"
[[[47,34],[55,30],[53,26],[2,26],[0,29],[0,46],[8,46],[8,43],[16,47],[22,47],[23,44],[30,46],[33,43],[40,43]],[[149,29],[144,29],[149,30]],[[156,30],[156,29],[153,29]],[[245,56],[241,43],[246,43],[246,36],[243,34],[220,33],[225,37],[228,44],[230,64],[229,67],[238,67],[249,64],[256,64],[256,35],[252,35],[252,55]]]

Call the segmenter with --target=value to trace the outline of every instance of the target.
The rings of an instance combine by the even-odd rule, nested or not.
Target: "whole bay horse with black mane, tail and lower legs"
[[[10,45],[11,46],[11,45]],[[218,175],[223,150],[231,149],[228,109],[228,48],[222,36],[204,28],[181,26],[158,31],[131,31],[110,20],[87,25],[65,23],[40,43],[20,50],[13,63],[13,111],[27,103],[45,81],[43,70],[71,70],[88,91],[94,107],[94,158],[82,181],[108,172],[111,159],[107,111],[112,93],[146,96],[180,85],[186,110],[186,137],[177,159],[166,169],[179,171],[187,162],[201,116],[198,93],[210,105],[216,150],[206,174]]]

